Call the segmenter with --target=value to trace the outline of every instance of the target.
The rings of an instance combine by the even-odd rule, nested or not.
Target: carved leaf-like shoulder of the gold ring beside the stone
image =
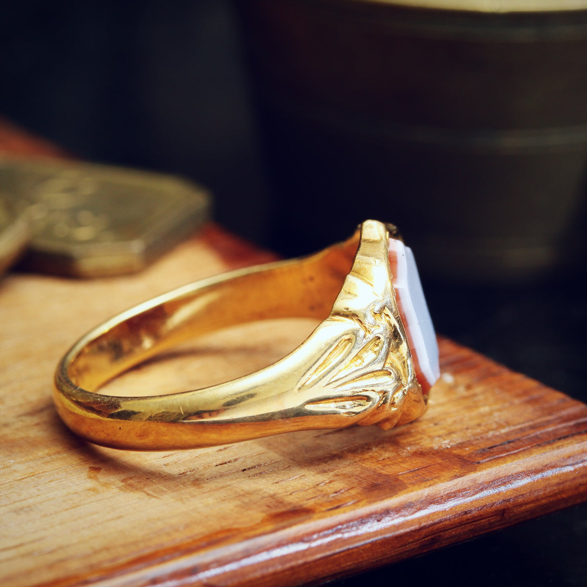
[[[381,225],[375,228],[382,232]],[[305,404],[310,412],[352,416],[358,424],[387,430],[406,409],[421,413],[425,402],[393,292],[387,233],[369,235],[365,227],[363,232],[366,238],[328,319],[345,325],[345,333],[304,373],[296,389],[312,389]],[[379,263],[363,262],[362,247]],[[369,298],[372,303],[365,307]],[[357,299],[361,302],[353,303]]]

